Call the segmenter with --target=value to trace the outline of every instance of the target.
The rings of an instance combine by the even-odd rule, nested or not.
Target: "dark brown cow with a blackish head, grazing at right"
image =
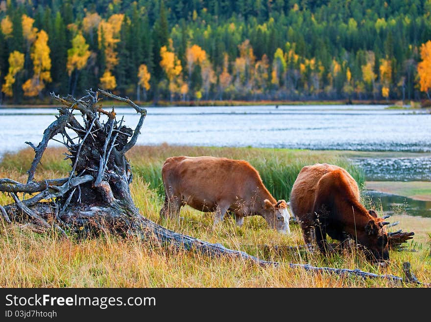
[[[366,247],[367,257],[381,265],[389,260],[384,227],[387,222],[360,203],[358,184],[343,168],[329,164],[302,168],[293,184],[289,205],[305,242],[315,240],[323,253],[328,247],[328,234],[340,241],[348,237],[357,240]]]

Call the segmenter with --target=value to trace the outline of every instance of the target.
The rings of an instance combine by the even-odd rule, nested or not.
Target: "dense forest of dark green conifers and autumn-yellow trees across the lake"
[[[431,0],[1,0],[0,100],[100,86],[155,102],[419,100],[430,11]]]

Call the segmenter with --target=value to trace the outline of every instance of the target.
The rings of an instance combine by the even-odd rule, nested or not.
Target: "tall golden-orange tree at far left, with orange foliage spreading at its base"
[[[37,33],[36,41],[31,48],[30,57],[33,61],[33,77],[23,84],[25,96],[39,95],[45,88],[45,82],[51,81],[51,58],[48,47],[48,34],[45,30]]]

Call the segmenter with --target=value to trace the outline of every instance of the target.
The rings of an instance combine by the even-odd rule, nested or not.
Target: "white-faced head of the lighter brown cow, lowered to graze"
[[[279,200],[277,203],[272,204],[271,201],[265,199],[263,201],[263,209],[263,217],[271,228],[277,229],[277,231],[282,234],[290,234],[290,214],[287,210],[287,203],[285,200]]]

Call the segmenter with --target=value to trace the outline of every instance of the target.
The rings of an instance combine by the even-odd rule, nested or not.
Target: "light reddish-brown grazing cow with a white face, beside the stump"
[[[287,203],[276,201],[248,162],[212,156],[176,156],[162,167],[165,204],[160,216],[178,217],[189,205],[202,212],[215,212],[214,224],[227,211],[235,213],[238,226],[244,216],[261,215],[271,228],[290,233]]]

